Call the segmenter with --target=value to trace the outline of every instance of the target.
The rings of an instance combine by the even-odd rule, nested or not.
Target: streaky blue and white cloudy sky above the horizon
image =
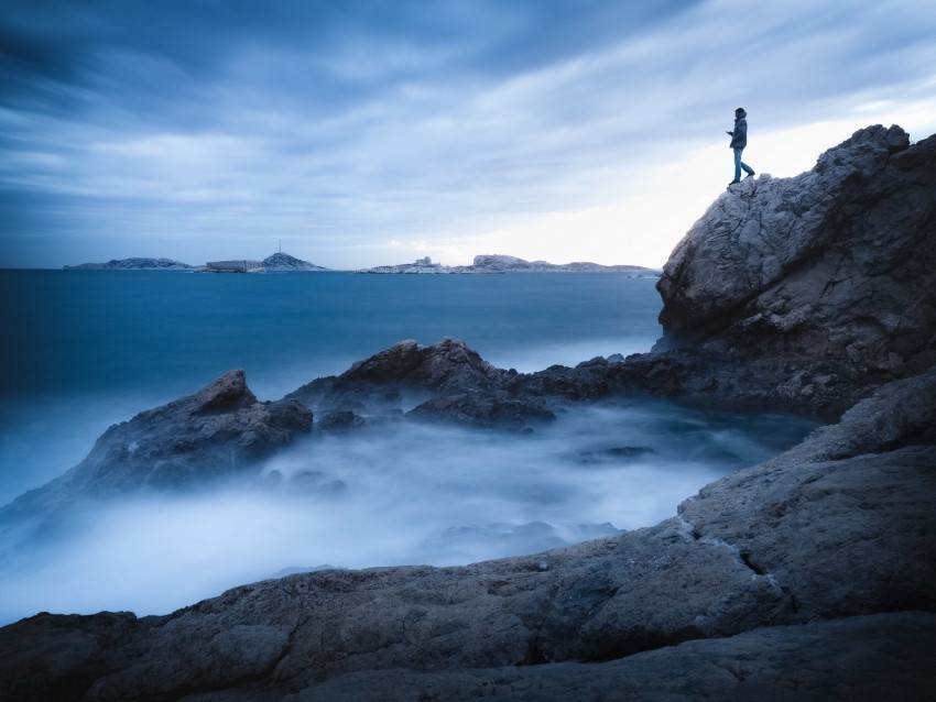
[[[0,0],[0,267],[661,266],[744,160],[936,132],[932,0]]]

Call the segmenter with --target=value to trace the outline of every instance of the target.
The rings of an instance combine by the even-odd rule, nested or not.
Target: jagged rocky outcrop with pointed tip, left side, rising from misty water
[[[110,427],[78,465],[3,507],[0,524],[35,519],[81,498],[188,490],[236,476],[309,431],[312,418],[297,402],[259,402],[243,371],[231,371],[194,395]]]

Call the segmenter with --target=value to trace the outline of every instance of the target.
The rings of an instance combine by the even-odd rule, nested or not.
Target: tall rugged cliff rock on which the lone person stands
[[[791,402],[847,405],[921,372],[936,361],[936,135],[870,127],[808,173],[732,186],[657,289],[657,349],[761,363],[752,380]]]

